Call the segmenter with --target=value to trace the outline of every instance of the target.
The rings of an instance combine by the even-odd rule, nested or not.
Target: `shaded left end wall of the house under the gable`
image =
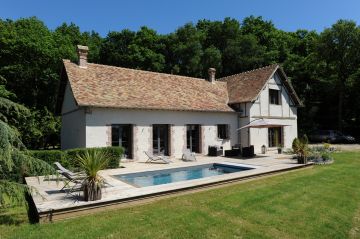
[[[67,83],[61,110],[61,148],[85,147],[85,112],[76,105]]]

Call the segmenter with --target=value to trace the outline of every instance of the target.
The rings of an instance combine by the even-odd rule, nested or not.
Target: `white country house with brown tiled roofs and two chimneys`
[[[279,65],[216,79],[127,69],[64,60],[57,111],[61,147],[123,146],[126,157],[144,151],[181,157],[186,148],[200,154],[208,146],[291,147],[297,137],[301,102]],[[245,129],[255,119],[286,125]]]

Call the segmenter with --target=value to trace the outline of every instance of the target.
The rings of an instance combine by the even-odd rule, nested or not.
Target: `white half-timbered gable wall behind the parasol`
[[[269,103],[269,89],[280,90],[281,104],[273,105]],[[291,148],[292,141],[297,137],[297,108],[292,106],[292,102],[286,88],[283,86],[279,76],[275,73],[274,76],[268,81],[261,91],[258,99],[251,105],[248,121],[251,122],[255,119],[264,118],[268,122],[279,123],[288,125],[283,127],[283,143],[285,148]],[[248,131],[248,130],[243,130]],[[254,145],[255,152],[261,152],[261,146],[268,147],[268,129],[249,129],[250,144]],[[246,132],[247,133],[247,132]],[[242,145],[249,145],[249,139],[246,139],[245,134]],[[242,137],[242,139],[244,138]],[[245,144],[243,142],[246,142]]]

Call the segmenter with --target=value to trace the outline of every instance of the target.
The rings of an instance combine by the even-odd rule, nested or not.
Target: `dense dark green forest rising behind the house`
[[[280,63],[304,103],[300,134],[338,129],[360,136],[360,27],[351,20],[322,32],[287,32],[249,16],[199,20],[169,34],[143,26],[102,37],[75,23],[49,29],[36,17],[0,19],[0,119],[28,149],[59,147],[62,59],[76,61],[78,44],[89,46],[93,63],[201,78],[209,67],[221,77]]]

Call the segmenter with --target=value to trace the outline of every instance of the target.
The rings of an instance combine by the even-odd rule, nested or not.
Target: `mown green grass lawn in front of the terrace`
[[[335,163],[51,224],[0,211],[0,238],[360,238],[360,153]]]

